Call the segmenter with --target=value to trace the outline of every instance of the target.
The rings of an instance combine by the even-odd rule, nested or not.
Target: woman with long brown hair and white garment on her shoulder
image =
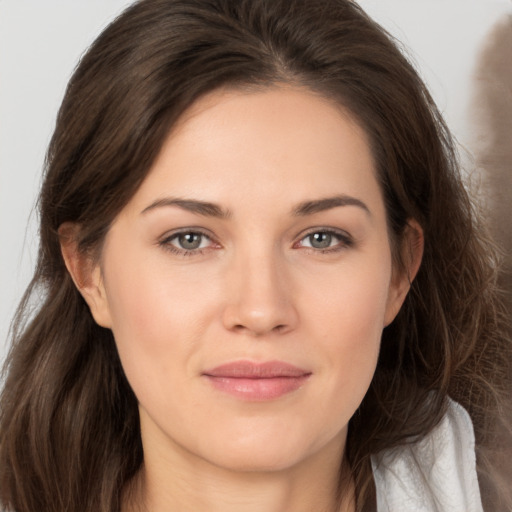
[[[70,81],[40,213],[5,508],[477,511],[477,471],[503,507],[494,253],[352,2],[134,4]]]

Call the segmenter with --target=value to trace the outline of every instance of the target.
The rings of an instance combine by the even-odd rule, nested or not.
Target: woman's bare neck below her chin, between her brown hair
[[[338,442],[294,467],[262,472],[231,471],[201,459],[162,465],[146,457],[122,511],[353,512],[354,485],[346,465],[340,468],[342,448]]]

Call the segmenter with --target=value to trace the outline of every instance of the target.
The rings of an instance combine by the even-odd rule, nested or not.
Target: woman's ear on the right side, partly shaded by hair
[[[423,229],[416,220],[410,219],[405,227],[400,249],[402,266],[398,268],[394,265],[393,268],[384,326],[389,325],[395,319],[404,303],[405,297],[407,297],[407,293],[421,265],[424,242]]]

